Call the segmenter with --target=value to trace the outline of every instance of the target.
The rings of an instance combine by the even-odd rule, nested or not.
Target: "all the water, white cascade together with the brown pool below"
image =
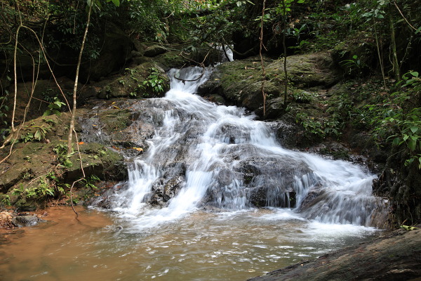
[[[156,129],[95,202],[109,210],[11,235],[0,279],[246,280],[375,233],[366,169],[286,150],[244,109],[195,96],[208,70],[169,75],[185,81],[145,101]]]

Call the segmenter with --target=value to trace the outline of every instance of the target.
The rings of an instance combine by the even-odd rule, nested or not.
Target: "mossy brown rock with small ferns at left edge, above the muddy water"
[[[79,110],[78,114],[86,112]],[[127,171],[123,156],[99,143],[79,143],[77,153],[66,157],[66,133],[69,115],[38,117],[25,123],[15,136],[20,142],[13,146],[13,154],[1,165],[0,190],[7,204],[18,209],[34,210],[44,207],[46,200],[58,199],[65,184],[83,176],[102,180],[120,180]],[[36,139],[34,136],[39,136]],[[74,149],[77,150],[76,145]],[[8,147],[0,151],[3,159]],[[60,191],[62,190],[62,191]]]

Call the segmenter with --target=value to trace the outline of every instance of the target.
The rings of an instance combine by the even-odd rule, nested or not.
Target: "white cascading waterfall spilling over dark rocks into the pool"
[[[143,155],[128,159],[128,181],[112,209],[139,228],[182,218],[198,208],[293,209],[321,223],[368,226],[374,176],[355,164],[286,150],[265,122],[243,108],[194,95],[210,70],[171,70],[171,90]],[[159,105],[159,106],[158,106]],[[150,202],[161,200],[161,208]]]

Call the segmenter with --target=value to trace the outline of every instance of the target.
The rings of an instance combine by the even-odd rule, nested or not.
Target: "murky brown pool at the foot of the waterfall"
[[[196,211],[153,228],[95,209],[47,211],[48,223],[1,233],[0,280],[247,280],[375,233],[285,209]]]

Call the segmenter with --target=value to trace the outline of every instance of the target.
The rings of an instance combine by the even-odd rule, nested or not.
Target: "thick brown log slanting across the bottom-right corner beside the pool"
[[[372,242],[347,247],[274,270],[248,281],[421,280],[421,225],[395,230]]]

